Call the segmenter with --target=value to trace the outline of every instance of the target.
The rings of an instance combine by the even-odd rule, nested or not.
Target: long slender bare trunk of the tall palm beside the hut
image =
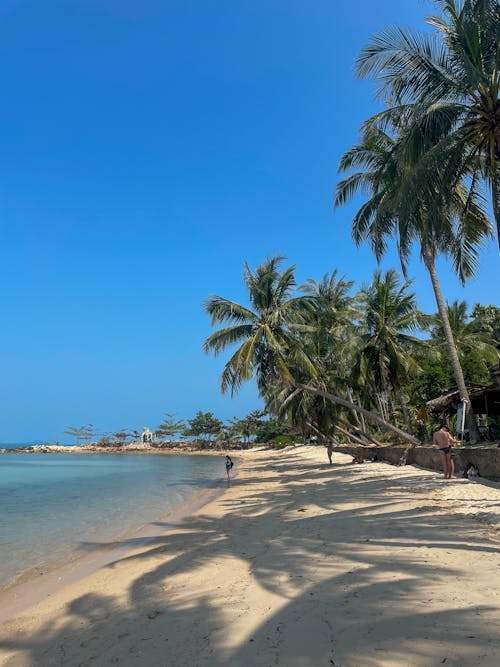
[[[453,339],[453,333],[451,331],[450,321],[448,319],[448,311],[443,299],[443,293],[441,292],[441,285],[439,284],[439,279],[436,271],[436,264],[434,261],[434,252],[432,248],[430,248],[429,246],[422,246],[422,257],[424,260],[425,267],[427,271],[429,271],[429,275],[431,277],[432,288],[434,290],[434,296],[436,297],[436,304],[438,307],[439,316],[441,317],[441,322],[443,324],[446,344],[448,346],[448,352],[450,354],[451,364],[453,366],[453,373],[455,375],[458,391],[460,392],[460,398],[462,401],[465,401],[466,405],[465,418],[467,420],[467,427],[469,429],[470,440],[471,442],[477,442],[479,440],[479,430],[477,428],[474,412],[472,411],[469,392],[467,391],[467,387],[465,386],[464,374],[462,372],[462,366],[460,365],[460,360],[458,358],[458,352],[455,345],[455,340]]]

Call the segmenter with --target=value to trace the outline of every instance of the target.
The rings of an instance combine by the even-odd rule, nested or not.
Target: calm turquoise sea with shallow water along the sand
[[[139,528],[224,474],[222,456],[0,454],[0,586]]]

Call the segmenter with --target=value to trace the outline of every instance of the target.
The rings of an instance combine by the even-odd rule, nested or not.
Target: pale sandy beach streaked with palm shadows
[[[222,495],[4,619],[0,665],[500,664],[498,484],[238,457]]]

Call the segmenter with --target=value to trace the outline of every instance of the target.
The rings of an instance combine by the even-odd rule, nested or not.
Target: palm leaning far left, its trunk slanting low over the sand
[[[338,397],[331,392],[298,382],[290,369],[314,378],[316,371],[311,357],[301,344],[299,328],[305,324],[311,307],[307,297],[292,297],[295,287],[294,267],[280,273],[283,257],[271,257],[252,272],[244,264],[244,281],[252,308],[247,308],[220,296],[211,296],[204,305],[212,326],[228,324],[209,336],[204,344],[205,352],[216,355],[238,345],[224,366],[221,391],[234,394],[241,384],[256,376],[259,393],[264,398],[283,388],[293,387],[348,408],[383,428],[396,433],[413,444],[418,441],[401,429],[386,423],[378,415]]]

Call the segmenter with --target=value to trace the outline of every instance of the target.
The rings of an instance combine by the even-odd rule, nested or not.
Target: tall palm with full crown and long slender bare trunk
[[[479,437],[470,398],[448,321],[441,291],[436,258],[451,259],[462,282],[477,268],[478,247],[492,234],[491,222],[484,212],[484,202],[477,183],[462,181],[445,184],[428,173],[425,160],[408,152],[408,130],[401,119],[389,134],[384,125],[373,121],[365,125],[361,141],[341,158],[339,171],[359,171],[338,183],[335,207],[351,200],[359,191],[367,201],[355,214],[352,235],[359,245],[369,240],[379,261],[387,249],[388,238],[395,237],[403,272],[414,242],[431,278],[436,303],[443,323],[454,375],[462,401],[467,406],[467,424],[471,440]],[[422,187],[426,183],[427,187]],[[434,183],[431,190],[430,184]]]

